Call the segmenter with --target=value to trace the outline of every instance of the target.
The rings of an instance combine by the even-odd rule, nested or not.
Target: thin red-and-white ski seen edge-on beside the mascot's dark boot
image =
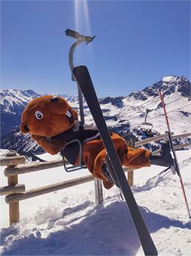
[[[165,108],[164,97],[162,95],[162,91],[160,91],[160,90],[159,90],[159,97],[160,97],[160,100],[162,102],[162,108],[163,108],[163,111],[164,111],[164,114],[165,114],[165,120],[166,120],[166,124],[167,124],[167,131],[168,131],[170,147],[172,148],[172,151],[173,151],[174,164],[175,164],[176,172],[177,172],[177,174],[179,176],[179,180],[180,180],[180,183],[181,183],[181,190],[182,190],[182,193],[183,193],[183,196],[184,196],[184,201],[185,201],[186,208],[187,208],[188,218],[191,219],[190,209],[189,209],[188,202],[187,202],[187,196],[186,196],[186,193],[185,193],[185,190],[184,190],[183,181],[181,179],[181,172],[180,172],[180,169],[179,169],[179,163],[178,163],[178,160],[177,160],[177,157],[176,157],[176,152],[175,152],[175,149],[173,147],[173,141],[172,141],[172,138],[171,138],[171,135],[170,135],[170,125],[169,125],[169,122],[168,122],[168,117],[167,117],[167,111],[166,111],[166,108]]]

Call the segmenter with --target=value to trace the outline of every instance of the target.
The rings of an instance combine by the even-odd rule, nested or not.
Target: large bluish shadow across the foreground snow
[[[84,210],[90,204],[90,201],[80,204],[77,209]],[[115,201],[107,207],[99,205],[66,221],[66,216],[77,209],[68,208],[60,218],[51,219],[48,222],[49,229],[57,225],[57,221],[61,221],[63,229],[51,232],[47,238],[29,235],[12,241],[6,248],[7,242],[2,236],[4,250],[1,255],[136,255],[140,241],[125,202]],[[151,233],[170,226],[189,229],[189,224],[170,220],[145,207],[140,207],[140,211]],[[75,224],[74,221],[80,222]],[[7,235],[15,235],[13,232],[7,229]]]

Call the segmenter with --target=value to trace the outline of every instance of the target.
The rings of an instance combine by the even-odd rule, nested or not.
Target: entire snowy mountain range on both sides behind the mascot
[[[191,101],[190,81],[186,77],[163,77],[159,82],[147,86],[143,91],[134,91],[128,97],[104,97],[99,99],[104,118],[112,131],[126,134],[129,130],[137,136],[137,129],[145,127],[146,109],[150,109],[147,122],[153,127],[154,134],[160,134],[167,130],[165,117],[161,108],[158,90],[161,89],[165,96],[165,103],[170,120],[171,130],[175,134],[190,131]],[[59,94],[61,95],[61,94]],[[21,113],[32,98],[40,94],[32,90],[6,90],[1,91],[1,148],[11,148],[17,151],[39,151],[35,142],[18,131]],[[62,96],[62,95],[61,95]],[[67,96],[68,102],[73,108],[79,108],[76,95]],[[84,102],[85,122],[92,124],[93,117],[87,104]],[[10,131],[14,130],[11,134]]]

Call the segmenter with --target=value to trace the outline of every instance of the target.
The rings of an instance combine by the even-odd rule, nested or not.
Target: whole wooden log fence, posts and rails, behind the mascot
[[[179,134],[172,136],[173,139],[191,136],[191,133],[187,134]],[[135,148],[140,145],[145,145],[151,142],[154,142],[159,139],[165,139],[166,135],[162,134],[159,136],[154,136],[148,139],[141,140],[139,142],[135,142]],[[176,145],[174,148],[184,148],[190,146],[191,142],[185,143],[183,145]],[[158,151],[154,151],[154,153],[159,153]],[[95,203],[99,204],[103,201],[103,193],[102,193],[102,184],[98,179],[93,178],[91,175],[87,175],[77,179],[71,179],[68,181],[61,181],[56,184],[51,184],[44,187],[37,187],[33,190],[25,190],[24,184],[18,184],[18,175],[23,173],[32,173],[37,170],[46,170],[54,167],[63,166],[62,160],[57,161],[49,161],[49,162],[38,162],[32,164],[25,164],[24,156],[17,156],[16,153],[10,152],[7,153],[6,157],[0,159],[0,165],[6,165],[7,167],[4,169],[4,175],[7,176],[8,186],[0,187],[0,196],[7,195],[5,197],[5,201],[9,204],[10,210],[10,225],[13,222],[19,221],[19,201],[25,200],[27,198],[32,198],[35,196],[40,196],[46,193],[51,193],[56,190],[62,190],[67,187],[73,187],[79,184],[84,184],[89,181],[94,180],[95,184]],[[133,184],[134,180],[134,171],[129,168],[124,168],[124,171],[128,171],[128,181],[129,185]]]

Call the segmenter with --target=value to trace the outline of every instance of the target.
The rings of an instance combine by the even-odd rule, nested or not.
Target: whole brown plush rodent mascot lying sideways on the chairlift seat
[[[47,95],[32,100],[24,109],[20,129],[24,134],[31,134],[46,152],[52,155],[60,152],[72,165],[79,165],[79,143],[67,143],[79,139],[83,164],[94,177],[103,180],[104,187],[113,186],[105,163],[106,150],[97,128],[79,122],[77,112],[63,97]],[[118,134],[111,133],[111,138],[123,166],[172,165],[169,145],[163,147],[161,155],[153,156],[143,148],[127,147],[125,139]]]

